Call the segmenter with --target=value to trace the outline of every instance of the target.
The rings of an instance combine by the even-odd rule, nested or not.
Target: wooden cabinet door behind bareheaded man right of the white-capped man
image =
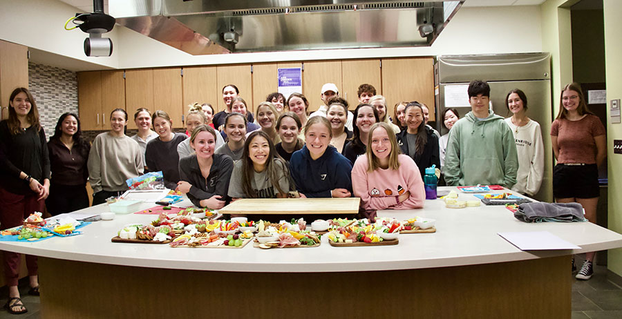
[[[371,84],[376,88],[376,94],[382,93],[380,77],[380,59],[343,60],[341,61],[343,87],[339,95],[348,101],[350,110],[359,105],[357,90],[361,84]]]

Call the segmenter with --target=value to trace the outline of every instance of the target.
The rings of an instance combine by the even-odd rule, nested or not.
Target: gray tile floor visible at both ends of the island
[[[580,269],[583,260],[577,256],[577,267]],[[604,266],[594,267],[594,276],[590,280],[575,280],[572,284],[572,319],[620,319],[622,318],[622,287],[607,280],[607,269]],[[19,317],[0,310],[0,319],[4,318],[41,318],[39,297],[28,296],[28,279],[21,280],[19,291],[23,296],[23,304],[28,309]],[[6,303],[8,289],[0,289],[1,305]]]

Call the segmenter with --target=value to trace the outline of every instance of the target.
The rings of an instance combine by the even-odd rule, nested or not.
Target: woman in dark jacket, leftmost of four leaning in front
[[[187,194],[196,206],[209,209],[225,206],[233,170],[229,155],[214,154],[217,134],[210,126],[197,126],[190,135],[190,145],[196,154],[179,160],[178,191]]]

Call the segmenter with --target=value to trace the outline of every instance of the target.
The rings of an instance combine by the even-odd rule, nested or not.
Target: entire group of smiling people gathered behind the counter
[[[0,122],[0,223],[18,226],[44,204],[53,214],[119,195],[126,180],[144,171],[162,171],[164,184],[187,193],[197,206],[220,209],[243,197],[361,198],[363,211],[424,206],[422,175],[442,167],[450,186],[500,184],[534,195],[543,179],[540,126],[526,115],[527,97],[511,90],[503,119],[489,109],[490,88],[472,81],[471,112],[462,119],[447,108],[440,136],[427,125],[428,108],[400,102],[388,115],[386,99],[369,84],[359,86],[359,104],[351,113],[334,84],[321,91],[324,103],[309,115],[309,102],[294,93],[273,93],[249,113],[238,88],[223,88],[227,108],[214,113],[194,104],[185,117],[186,133],[174,133],[167,113],[139,108],[138,133],[125,135],[126,110],[110,117],[111,130],[91,145],[82,137],[79,117],[65,113],[48,142],[28,89],[10,95],[9,117]],[[255,123],[256,122],[256,123]],[[596,221],[598,166],[605,158],[605,129],[587,109],[581,87],[569,84],[550,132],[558,164],[553,172],[557,202],[578,202]],[[26,311],[17,291],[19,254],[4,252],[12,313]],[[577,278],[592,276],[593,253]],[[26,258],[31,293],[38,293],[36,258]]]

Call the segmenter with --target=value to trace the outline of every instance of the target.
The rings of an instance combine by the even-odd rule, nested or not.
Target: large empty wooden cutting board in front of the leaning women
[[[359,197],[348,198],[245,198],[220,209],[223,214],[356,214]]]

